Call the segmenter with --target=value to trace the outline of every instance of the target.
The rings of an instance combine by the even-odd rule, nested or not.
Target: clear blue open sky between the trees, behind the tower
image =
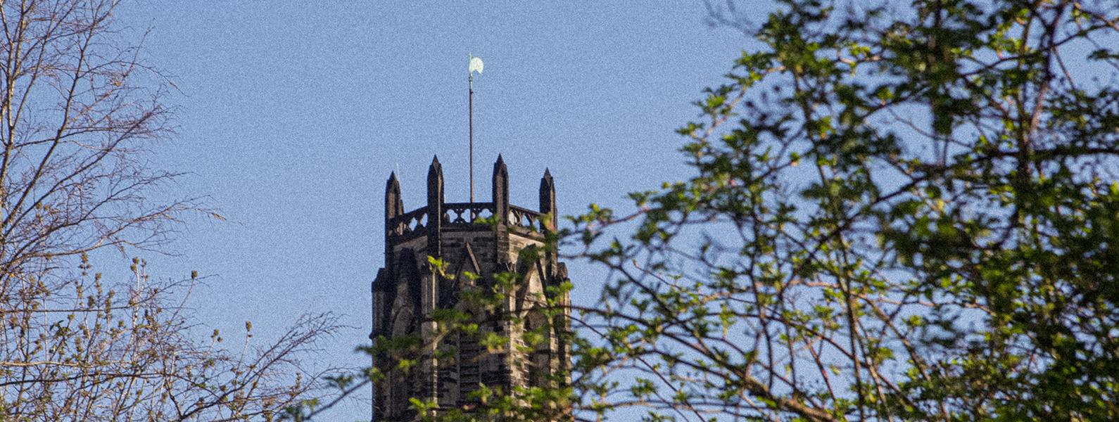
[[[708,27],[699,0],[149,1],[117,16],[150,29],[147,59],[178,87],[167,99],[178,131],[152,166],[189,175],[167,194],[205,196],[227,218],[190,217],[170,247],[179,255],[145,256],[150,271],[210,274],[191,298],[199,321],[239,332],[251,320],[256,341],[304,312],[345,315],[352,328],[320,345],[318,365],[366,362],[351,350],[369,330],[389,172],[415,208],[438,153],[446,200],[467,200],[469,53],[486,60],[478,198],[501,153],[514,204],[535,208],[549,168],[561,214],[575,214],[684,178],[674,130],[746,43]],[[592,301],[602,273],[570,265],[574,300]]]

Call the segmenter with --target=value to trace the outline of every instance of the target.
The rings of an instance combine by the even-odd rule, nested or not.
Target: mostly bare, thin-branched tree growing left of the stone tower
[[[297,358],[331,317],[234,354],[217,331],[190,336],[182,300],[196,276],[153,281],[140,260],[131,280],[92,271],[91,256],[114,248],[162,251],[180,216],[206,212],[154,199],[177,176],[145,162],[170,133],[170,85],[114,21],[116,6],[0,2],[0,420],[278,413],[316,385],[298,379]]]

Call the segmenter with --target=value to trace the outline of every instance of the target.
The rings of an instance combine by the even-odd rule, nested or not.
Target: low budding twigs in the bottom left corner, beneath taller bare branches
[[[197,278],[153,281],[141,260],[131,282],[105,281],[85,260],[82,270],[66,285],[20,290],[30,309],[4,309],[3,420],[272,420],[317,386],[297,358],[333,332],[333,317],[304,318],[264,347],[245,322],[234,354],[218,330],[191,336],[178,297]]]

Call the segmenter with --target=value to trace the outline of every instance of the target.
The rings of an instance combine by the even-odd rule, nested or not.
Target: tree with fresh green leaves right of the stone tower
[[[1115,3],[728,4],[694,175],[575,218],[581,414],[1119,418]]]

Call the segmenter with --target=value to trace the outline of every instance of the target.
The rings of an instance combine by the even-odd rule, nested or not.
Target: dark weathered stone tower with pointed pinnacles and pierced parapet
[[[427,170],[427,201],[405,212],[396,175],[385,188],[385,266],[373,282],[373,334],[378,343],[411,345],[419,350],[406,358],[414,366],[399,367],[402,356],[374,354],[374,366],[386,376],[374,383],[373,419],[414,421],[420,415],[410,398],[438,403],[439,411],[468,410],[470,393],[479,385],[500,387],[548,386],[549,375],[570,364],[562,331],[570,323],[566,312],[542,329],[545,318],[534,308],[548,287],[567,280],[566,266],[554,248],[544,248],[545,236],[555,232],[556,200],[552,175],[540,179],[539,208],[509,204],[509,172],[499,156],[493,165],[493,196],[486,203],[443,200],[443,169],[439,159]],[[427,257],[443,262],[442,271]],[[464,273],[477,274],[467,276]],[[493,291],[496,274],[515,274],[513,292],[496,308],[482,309],[460,293],[479,289]],[[566,293],[558,299],[568,303]],[[433,313],[455,309],[478,323],[477,332],[440,335]],[[513,317],[513,318],[510,318]],[[544,341],[525,347],[525,332],[544,331]],[[493,332],[506,345],[489,350],[479,339]],[[497,350],[497,351],[491,351]]]

